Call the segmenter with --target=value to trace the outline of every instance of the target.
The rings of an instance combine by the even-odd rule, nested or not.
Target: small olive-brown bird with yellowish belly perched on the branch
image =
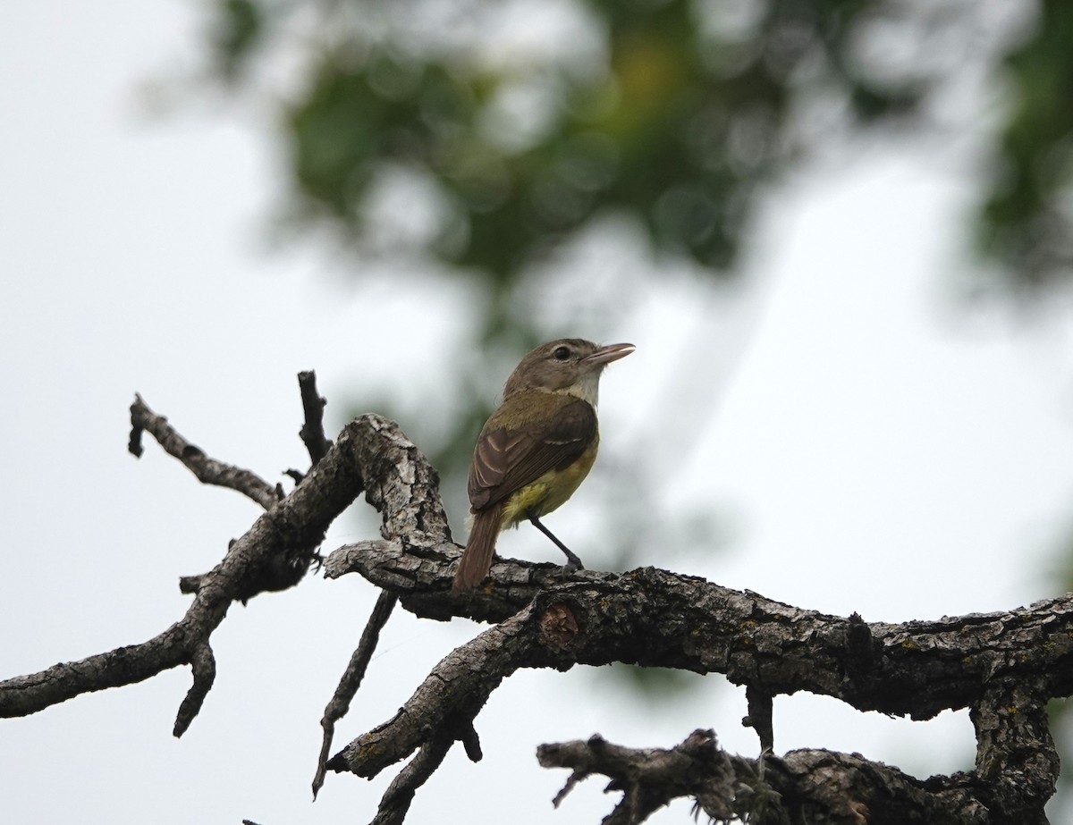
[[[501,530],[528,520],[567,554],[582,560],[540,522],[569,499],[597,457],[600,373],[633,352],[632,343],[599,347],[561,338],[527,354],[503,387],[503,402],[485,423],[473,450],[469,497],[473,527],[454,592],[476,587],[491,568]]]

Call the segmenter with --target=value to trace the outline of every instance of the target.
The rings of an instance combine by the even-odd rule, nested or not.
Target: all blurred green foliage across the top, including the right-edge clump
[[[576,334],[570,308],[548,329],[517,296],[601,218],[725,278],[770,182],[840,139],[926,131],[982,48],[1005,97],[979,126],[979,249],[1002,264],[981,271],[1068,275],[1073,5],[1023,6],[1034,25],[1004,32],[972,1],[215,0],[205,47],[212,77],[279,113],[295,224],[476,284],[474,343],[513,363]],[[393,222],[380,196],[400,181]],[[429,445],[449,475],[495,395],[462,382],[473,402]]]

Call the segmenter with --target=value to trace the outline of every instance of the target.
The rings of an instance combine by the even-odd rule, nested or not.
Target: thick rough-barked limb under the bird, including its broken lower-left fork
[[[926,786],[932,796],[913,804],[942,810],[950,822],[979,822],[981,810],[997,816],[991,822],[1044,822],[1058,774],[1045,703],[1073,689],[1073,594],[1010,613],[866,623],[652,568],[578,571],[564,580],[552,565],[500,560],[483,590],[457,596],[450,589],[457,555],[447,543],[413,553],[381,541],[341,547],[326,561],[329,577],[359,572],[417,615],[500,622],[442,660],[393,719],[347,746],[329,769],[371,777],[433,738],[460,738],[490,692],[520,667],[628,662],[718,672],[747,686],[748,720],[765,748],[771,697],[798,690],[913,719],[968,707],[978,775],[935,779]],[[912,782],[896,789],[910,800],[920,791]],[[958,789],[954,798],[942,795],[950,787]],[[826,821],[850,822],[851,814],[858,815]],[[868,820],[879,821],[874,812]]]

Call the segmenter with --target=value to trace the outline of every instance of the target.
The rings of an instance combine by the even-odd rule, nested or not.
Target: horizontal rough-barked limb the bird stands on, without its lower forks
[[[1073,594],[1010,613],[866,623],[657,568],[563,578],[552,564],[499,560],[484,591],[455,595],[449,565],[457,555],[450,544],[417,556],[397,543],[358,543],[329,554],[324,570],[359,573],[431,618],[504,621],[553,593],[577,606],[579,663],[722,673],[771,696],[807,690],[859,710],[930,719],[973,706],[1000,677],[1038,684],[1041,695],[1073,692]]]

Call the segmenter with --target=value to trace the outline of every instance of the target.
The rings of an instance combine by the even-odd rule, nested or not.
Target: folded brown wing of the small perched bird
[[[597,433],[592,404],[571,396],[546,422],[505,428],[498,422],[510,419],[515,404],[525,403],[528,393],[513,396],[493,414],[481,430],[470,465],[469,496],[475,513],[491,506],[532,484],[552,469],[569,467],[585,452]]]

